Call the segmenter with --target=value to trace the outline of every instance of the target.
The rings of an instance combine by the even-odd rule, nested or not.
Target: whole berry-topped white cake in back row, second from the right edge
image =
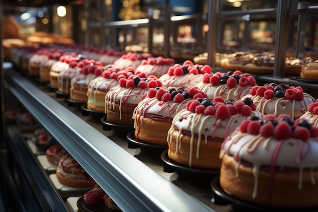
[[[303,92],[302,87],[284,83],[256,85],[242,99],[245,97],[251,98],[257,105],[256,110],[265,115],[287,114],[295,119],[307,112],[310,103],[316,102],[312,96]]]

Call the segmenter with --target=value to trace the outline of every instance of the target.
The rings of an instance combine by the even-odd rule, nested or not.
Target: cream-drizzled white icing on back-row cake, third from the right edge
[[[202,81],[196,84],[200,90],[202,90],[208,98],[213,99],[214,97],[221,96],[224,99],[235,99],[241,100],[245,95],[249,94],[249,90],[252,86],[242,87],[236,85],[233,88],[228,87],[226,84],[212,85],[211,83],[203,83]]]

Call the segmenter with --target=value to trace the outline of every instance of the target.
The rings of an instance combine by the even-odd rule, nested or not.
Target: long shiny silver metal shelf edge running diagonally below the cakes
[[[13,69],[5,70],[5,79],[10,92],[123,211],[229,211],[230,206],[211,202],[209,187],[197,191],[176,180],[160,161],[128,148],[125,136],[103,131],[101,123],[67,107],[63,98],[55,99]]]

